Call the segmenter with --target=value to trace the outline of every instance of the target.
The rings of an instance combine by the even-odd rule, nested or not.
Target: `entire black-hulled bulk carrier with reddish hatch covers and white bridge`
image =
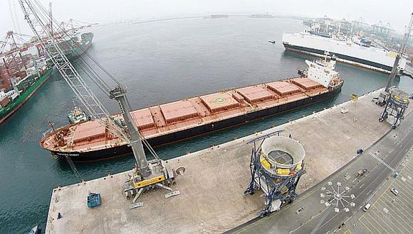
[[[334,70],[335,60],[305,62],[308,69],[301,77],[150,106],[131,115],[140,135],[159,146],[324,101],[341,90],[343,80]],[[120,114],[113,118],[123,121]],[[132,153],[124,141],[93,120],[53,128],[40,145],[54,157],[73,161]]]

